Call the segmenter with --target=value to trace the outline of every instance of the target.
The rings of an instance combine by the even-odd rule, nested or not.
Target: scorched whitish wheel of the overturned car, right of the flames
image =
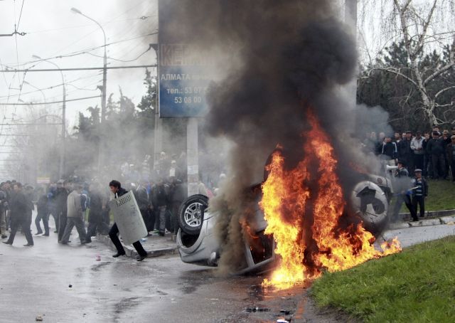
[[[379,235],[389,221],[389,203],[384,191],[372,181],[361,181],[355,185],[350,199],[353,210],[362,218],[365,229]]]

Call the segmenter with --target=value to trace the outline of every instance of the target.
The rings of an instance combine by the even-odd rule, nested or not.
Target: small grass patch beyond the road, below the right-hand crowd
[[[455,184],[452,181],[428,181],[429,194],[425,200],[425,211],[441,211],[455,209]],[[402,205],[402,213],[409,213],[409,210]]]

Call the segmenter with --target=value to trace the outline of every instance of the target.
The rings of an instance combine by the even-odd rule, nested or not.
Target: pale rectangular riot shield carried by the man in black
[[[109,201],[109,207],[114,213],[115,223],[125,245],[131,245],[147,235],[144,219],[132,191]]]

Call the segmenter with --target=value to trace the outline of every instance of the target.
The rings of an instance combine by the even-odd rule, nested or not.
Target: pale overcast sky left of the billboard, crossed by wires
[[[112,43],[107,46],[108,66],[156,63],[154,50],[147,49],[149,43],[156,43],[157,37],[146,36],[158,28],[156,0],[0,0],[0,34],[14,32],[15,23],[18,32],[26,33],[0,37],[1,69],[55,68],[32,55],[49,58],[60,68],[102,67],[103,33],[95,22],[70,11],[73,7],[104,28],[107,43]],[[55,58],[60,55],[61,58]],[[154,68],[150,70],[156,73]],[[97,85],[102,85],[102,70],[64,71],[63,76],[67,101],[101,94]],[[144,68],[108,70],[107,96],[114,93],[114,100],[118,100],[120,87],[124,95],[139,103],[146,92],[144,76]],[[3,122],[17,122],[30,114],[27,106],[3,103],[60,101],[63,99],[61,84],[59,72],[1,73],[0,116]],[[68,101],[68,129],[77,125],[78,112],[87,114],[87,107],[95,105],[101,106],[100,97]],[[36,109],[41,107],[44,105],[35,106]],[[45,108],[48,114],[61,115],[61,103],[47,104]],[[3,132],[10,129],[7,126],[0,128]],[[0,138],[0,144],[4,144],[4,139]]]

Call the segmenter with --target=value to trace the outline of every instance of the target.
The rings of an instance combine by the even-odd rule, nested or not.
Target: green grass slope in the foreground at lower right
[[[326,273],[311,294],[365,322],[455,322],[455,237]]]

